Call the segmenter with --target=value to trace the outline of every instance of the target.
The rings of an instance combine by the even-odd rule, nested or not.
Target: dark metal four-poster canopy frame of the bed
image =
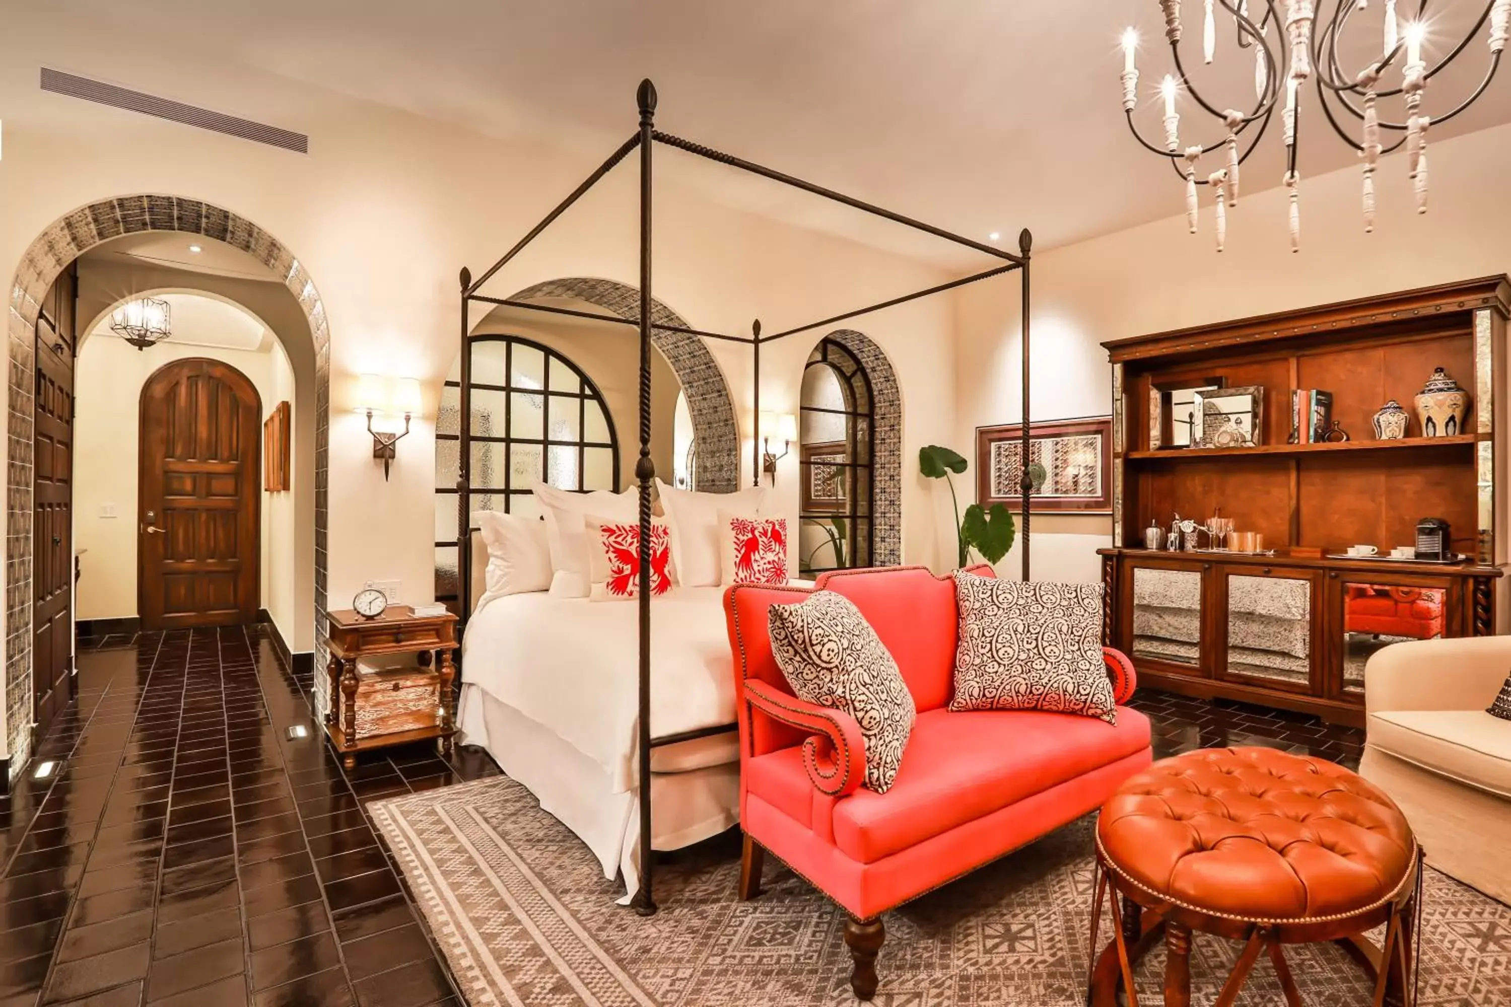
[[[636,92],[636,103],[639,106],[639,128],[630,139],[620,145],[609,160],[603,162],[597,171],[594,171],[588,178],[573,189],[571,195],[562,199],[555,210],[545,214],[545,217],[530,228],[520,242],[505,252],[503,258],[490,266],[480,276],[473,279],[471,272],[467,269],[461,270],[461,417],[458,421],[459,430],[459,451],[458,451],[458,537],[456,537],[456,575],[458,575],[458,593],[461,596],[461,621],[465,627],[467,617],[470,616],[471,607],[471,548],[470,548],[470,525],[471,515],[468,513],[470,503],[470,482],[471,482],[471,334],[468,331],[468,306],[473,302],[488,303],[488,305],[505,305],[509,308],[523,308],[527,311],[542,311],[548,314],[562,314],[577,319],[592,319],[595,322],[609,322],[616,325],[633,326],[639,329],[639,350],[641,350],[641,376],[639,376],[639,439],[641,453],[635,463],[635,479],[639,482],[639,565],[641,565],[641,580],[639,580],[639,868],[641,868],[641,883],[639,891],[633,898],[633,906],[638,913],[648,916],[656,912],[656,900],[653,897],[653,868],[654,858],[651,855],[651,749],[677,744],[680,741],[691,741],[694,738],[710,737],[715,734],[727,734],[736,731],[737,725],[719,725],[715,728],[703,728],[698,731],[684,731],[674,735],[651,737],[650,725],[650,699],[651,699],[651,480],[656,477],[656,467],[651,462],[651,332],[681,332],[686,335],[697,335],[706,340],[722,340],[725,343],[743,343],[751,347],[752,358],[752,412],[760,417],[760,349],[766,343],[774,343],[777,340],[786,338],[789,335],[796,335],[798,332],[808,332],[811,329],[825,328],[836,325],[839,322],[846,322],[849,319],[870,314],[873,311],[881,311],[884,308],[891,308],[910,300],[917,300],[920,297],[928,297],[931,294],[943,293],[946,290],[953,290],[956,287],[964,287],[967,284],[975,284],[982,279],[991,279],[993,276],[1002,276],[1005,273],[1018,272],[1021,273],[1023,282],[1023,343],[1021,343],[1021,370],[1023,370],[1023,451],[1021,463],[1023,474],[1020,479],[1020,486],[1023,491],[1023,527],[1021,527],[1021,547],[1023,547],[1023,578],[1029,577],[1029,516],[1031,516],[1031,500],[1034,480],[1029,479],[1027,463],[1029,463],[1029,252],[1034,243],[1032,234],[1024,228],[1018,234],[1018,254],[1005,252],[991,245],[982,242],[973,242],[972,239],[961,237],[959,234],[952,234],[943,228],[914,220],[911,217],[902,216],[901,213],[893,213],[891,210],[884,210],[881,207],[872,205],[854,196],[846,196],[845,193],[834,192],[833,189],[825,189],[810,181],[804,181],[793,175],[787,175],[762,165],[734,157],[733,154],[724,154],[721,151],[703,146],[701,143],[694,143],[692,140],[684,140],[678,136],[671,136],[669,133],[662,133],[656,128],[656,86],[650,80],[642,80]],[[793,189],[801,189],[804,192],[831,199],[834,202],[854,207],[872,216],[901,223],[904,226],[922,231],[925,234],[932,234],[934,237],[952,242],[955,245],[963,245],[966,248],[990,255],[996,260],[1002,260],[1000,266],[987,269],[979,273],[972,273],[969,276],[961,276],[959,279],[952,279],[928,290],[917,290],[910,294],[902,294],[901,297],[891,297],[879,303],[867,305],[864,308],[857,308],[855,311],[846,311],[830,319],[820,319],[808,325],[799,325],[792,329],[784,329],[781,332],[774,332],[769,335],[762,335],[760,322],[751,326],[749,335],[728,335],[724,332],[706,332],[703,329],[691,329],[677,325],[662,325],[651,320],[651,163],[656,145],[665,145],[704,157],[721,165],[728,165],[740,171],[749,172],[752,175],[760,175],[772,181],[778,181],[784,186],[792,186]],[[512,300],[500,297],[488,297],[477,293],[484,284],[487,284],[494,273],[509,264],[530,242],[533,242],[547,226],[552,225],[562,213],[565,213],[577,199],[580,199],[598,180],[607,175],[620,162],[633,152],[639,152],[639,168],[641,168],[641,282],[639,282],[639,320],[621,319],[612,314],[598,314],[594,311],[579,311],[574,308],[559,308],[553,305],[530,303],[527,300]],[[760,436],[757,432],[756,445],[752,448],[751,468],[754,473],[754,485],[760,483]]]

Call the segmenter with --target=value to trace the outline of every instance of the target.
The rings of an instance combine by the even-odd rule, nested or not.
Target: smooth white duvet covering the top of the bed
[[[678,587],[651,602],[651,734],[734,722],[724,589]],[[550,728],[635,788],[639,605],[509,595],[482,605],[462,639],[462,679]]]

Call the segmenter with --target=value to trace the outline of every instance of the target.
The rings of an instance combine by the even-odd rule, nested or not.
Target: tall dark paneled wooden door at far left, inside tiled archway
[[[73,696],[74,667],[74,349],[77,270],[44,299],[36,322],[32,430],[32,720],[47,734]]]

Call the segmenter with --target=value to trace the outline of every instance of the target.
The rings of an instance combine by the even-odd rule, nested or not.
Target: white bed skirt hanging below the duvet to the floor
[[[458,726],[458,741],[487,749],[505,774],[523,784],[544,811],[592,850],[604,877],[624,876],[624,901],[639,889],[635,791],[613,793],[612,779],[601,765],[477,685],[462,684]],[[740,767],[734,738],[730,732],[674,746],[678,750],[666,759],[653,756],[653,770],[657,762],[681,770],[651,773],[653,848],[692,845],[739,821]],[[710,765],[712,761],[718,764]]]

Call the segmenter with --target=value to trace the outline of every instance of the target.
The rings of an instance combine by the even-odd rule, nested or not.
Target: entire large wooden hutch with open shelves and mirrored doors
[[[1508,296],[1511,284],[1496,276],[1105,344],[1114,370],[1105,634],[1144,681],[1357,725],[1375,649],[1496,631]],[[1426,438],[1413,397],[1437,367],[1472,406],[1454,436]],[[1254,445],[1177,445],[1176,390],[1212,386],[1262,390]],[[1298,388],[1331,393],[1348,441],[1292,441]],[[1373,414],[1390,399],[1413,414],[1405,439],[1375,436]],[[1144,528],[1168,528],[1177,513],[1198,522],[1221,513],[1274,554],[1141,548]],[[1466,559],[1328,559],[1349,545],[1411,545],[1422,518],[1446,519]]]

